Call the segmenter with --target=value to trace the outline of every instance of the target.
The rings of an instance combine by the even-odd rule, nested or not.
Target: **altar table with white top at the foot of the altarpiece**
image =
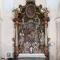
[[[19,54],[18,60],[45,60],[43,53],[39,54]]]

